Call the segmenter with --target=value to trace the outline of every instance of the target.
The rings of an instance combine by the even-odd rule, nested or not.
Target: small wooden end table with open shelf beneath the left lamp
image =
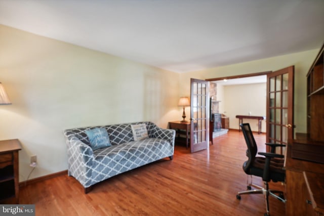
[[[19,202],[19,140],[0,141],[0,203]]]

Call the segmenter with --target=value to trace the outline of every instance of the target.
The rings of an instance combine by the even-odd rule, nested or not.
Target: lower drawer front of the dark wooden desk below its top
[[[286,150],[286,215],[324,215],[324,164],[292,158]]]

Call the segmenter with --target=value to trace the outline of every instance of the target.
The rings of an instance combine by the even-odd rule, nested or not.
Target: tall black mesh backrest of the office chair
[[[258,147],[254,140],[250,124],[249,123],[241,123],[240,127],[242,129],[244,139],[245,139],[245,142],[248,147],[247,156],[249,157],[249,160],[246,162],[246,164],[244,166],[244,170],[246,171],[246,169],[249,169],[251,164],[254,162],[255,156],[258,153]]]

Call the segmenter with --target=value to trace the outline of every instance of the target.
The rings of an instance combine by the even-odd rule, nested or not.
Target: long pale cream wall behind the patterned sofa
[[[179,74],[0,25],[0,139],[19,139],[20,181],[67,169],[66,128],[153,121],[182,112]]]

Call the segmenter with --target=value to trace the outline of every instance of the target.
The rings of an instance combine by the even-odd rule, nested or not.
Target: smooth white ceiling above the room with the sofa
[[[0,24],[176,72],[311,49],[323,0],[0,0]]]

